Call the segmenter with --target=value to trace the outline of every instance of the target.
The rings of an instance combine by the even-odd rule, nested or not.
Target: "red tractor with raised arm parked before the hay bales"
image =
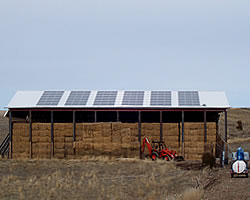
[[[184,160],[182,156],[178,156],[176,151],[168,149],[166,147],[166,144],[161,141],[152,141],[152,147],[148,140],[148,138],[144,138],[143,144],[142,144],[142,153],[144,154],[145,150],[145,144],[148,147],[149,154],[146,155],[149,156],[152,160],[156,160],[157,158],[164,159],[166,161],[170,161],[172,159],[175,159],[177,161]]]

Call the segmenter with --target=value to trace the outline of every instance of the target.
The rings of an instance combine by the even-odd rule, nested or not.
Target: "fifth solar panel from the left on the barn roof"
[[[171,91],[152,91],[150,105],[151,106],[171,106]]]

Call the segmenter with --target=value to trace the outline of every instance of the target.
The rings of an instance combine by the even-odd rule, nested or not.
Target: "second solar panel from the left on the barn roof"
[[[90,91],[71,91],[65,105],[86,105]]]

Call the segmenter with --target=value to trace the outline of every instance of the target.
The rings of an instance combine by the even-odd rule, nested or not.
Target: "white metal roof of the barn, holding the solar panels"
[[[56,90],[55,95],[57,95],[58,91],[63,90]],[[73,92],[78,91],[80,95],[80,90],[73,90]],[[155,90],[156,91],[156,90]],[[88,108],[88,109],[96,109],[96,108],[222,108],[226,109],[229,108],[229,103],[226,97],[225,92],[223,91],[184,91],[187,95],[185,97],[186,99],[182,99],[182,102],[186,102],[185,105],[181,104],[179,105],[180,98],[183,97],[183,91],[180,93],[180,91],[168,91],[171,95],[163,96],[166,94],[166,91],[159,90],[156,92],[153,92],[154,94],[159,94],[159,96],[152,95],[152,91],[132,91],[128,93],[124,90],[118,90],[115,92],[111,91],[89,91],[87,94],[88,96],[78,96],[78,93],[74,93],[74,95],[70,96],[72,91],[63,91],[60,93],[59,97],[56,96],[55,101],[55,95],[54,96],[48,96],[48,91],[17,91],[14,97],[11,99],[10,103],[6,108],[8,109],[18,109],[18,108]],[[47,92],[47,93],[46,93]],[[49,92],[49,94],[52,92]],[[142,99],[142,95],[143,99]],[[161,93],[163,95],[161,95]],[[192,99],[192,94],[198,93],[198,101]],[[97,94],[102,94],[98,96]],[[106,94],[106,95],[105,95]],[[132,96],[131,96],[132,94]],[[180,96],[182,94],[182,96]],[[110,96],[111,95],[111,96]],[[114,98],[115,95],[115,98]],[[128,95],[128,96],[126,96]],[[130,95],[130,96],[129,96]],[[137,95],[137,96],[136,96]],[[139,96],[138,96],[139,95]],[[98,96],[98,100],[102,100],[103,98],[103,104],[102,103],[95,103]],[[196,95],[197,96],[197,95]],[[70,97],[70,98],[69,98]],[[68,102],[74,102],[74,99],[76,98],[75,103],[72,103],[72,105],[69,105]],[[84,103],[81,105],[81,98],[84,99]],[[152,100],[154,98],[154,102],[152,103]],[[197,97],[196,97],[197,98]],[[67,100],[70,101],[67,101]],[[129,101],[124,101],[125,99],[128,99]],[[46,104],[47,102],[52,102]],[[38,102],[43,102],[38,103]],[[134,101],[134,103],[133,103]],[[166,101],[166,103],[165,103]],[[192,104],[192,102],[195,101],[196,104]],[[102,101],[98,101],[102,102]],[[130,102],[128,104],[124,102]],[[137,104],[136,102],[140,102]],[[191,102],[190,104],[188,102]],[[198,104],[197,104],[198,103]],[[137,105],[136,105],[137,104]]]

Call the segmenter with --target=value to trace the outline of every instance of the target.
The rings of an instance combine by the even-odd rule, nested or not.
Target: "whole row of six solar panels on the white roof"
[[[56,106],[59,104],[64,91],[44,91],[36,105],[38,106]],[[95,95],[96,94],[96,95]],[[145,91],[124,91],[122,97],[122,106],[143,106]],[[66,106],[86,106],[91,96],[94,100],[94,106],[114,106],[118,91],[71,91],[65,104]],[[148,101],[146,101],[148,102]],[[90,102],[92,104],[92,100]],[[119,102],[118,102],[119,104]],[[148,105],[148,103],[146,103]],[[151,91],[149,106],[171,106],[171,91]],[[179,106],[200,106],[198,91],[178,91]]]

